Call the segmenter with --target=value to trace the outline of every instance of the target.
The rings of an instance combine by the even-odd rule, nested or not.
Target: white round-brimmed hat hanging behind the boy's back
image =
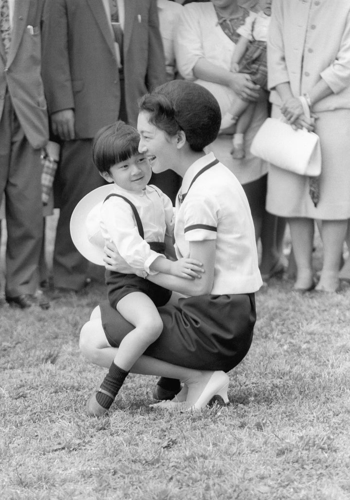
[[[87,193],[75,206],[70,217],[70,236],[81,255],[90,262],[104,265],[100,210],[113,184],[107,184]]]

